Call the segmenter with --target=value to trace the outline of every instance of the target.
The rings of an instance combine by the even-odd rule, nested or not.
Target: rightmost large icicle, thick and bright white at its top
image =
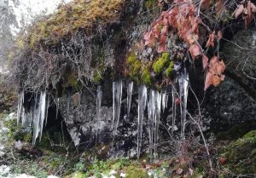
[[[179,83],[179,97],[181,100],[180,113],[181,113],[181,138],[185,138],[186,115],[187,115],[187,100],[189,89],[189,74],[186,68],[180,73],[178,78]]]

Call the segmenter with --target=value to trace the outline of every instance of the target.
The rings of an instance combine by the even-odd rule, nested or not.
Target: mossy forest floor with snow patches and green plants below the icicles
[[[185,149],[182,154],[160,155],[161,158],[154,161],[150,161],[148,154],[139,160],[100,159],[95,154],[98,151],[93,150],[98,147],[86,152],[56,151],[42,145],[32,146],[26,141],[16,141],[16,129],[15,113],[1,114],[0,178],[202,178],[256,175],[256,130],[245,135],[237,135],[238,128],[220,133],[220,138],[209,146],[211,169],[205,147],[191,146],[189,141],[183,143]],[[234,133],[236,139],[230,138]]]

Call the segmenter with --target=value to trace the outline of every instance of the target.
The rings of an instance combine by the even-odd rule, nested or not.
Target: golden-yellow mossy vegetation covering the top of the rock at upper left
[[[88,35],[96,32],[96,26],[107,26],[119,19],[124,0],[74,0],[61,6],[55,14],[45,17],[32,27],[28,37],[31,48],[49,45],[72,37],[78,30]]]

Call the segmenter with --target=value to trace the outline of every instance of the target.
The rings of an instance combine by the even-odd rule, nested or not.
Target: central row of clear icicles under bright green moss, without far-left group
[[[178,81],[178,89],[175,85],[172,85],[172,133],[176,128],[176,100],[180,100],[180,112],[181,112],[181,138],[185,137],[185,124],[187,115],[187,98],[189,89],[189,75],[186,69],[180,73]],[[123,81],[121,79],[113,82],[113,141],[118,135],[118,126],[122,101]],[[133,82],[127,84],[127,116],[130,115],[131,110],[131,95],[133,90]],[[145,85],[138,87],[138,100],[137,100],[137,158],[139,158],[142,141],[143,141],[143,123],[144,112],[148,110],[148,138],[149,138],[149,152],[151,158],[157,155],[157,146],[159,141],[159,124],[161,113],[167,108],[169,93],[166,90],[159,92],[154,89],[149,89]],[[177,92],[177,90],[179,92]],[[100,117],[100,103],[102,100],[102,87],[97,88],[96,97],[96,119],[99,121]]]

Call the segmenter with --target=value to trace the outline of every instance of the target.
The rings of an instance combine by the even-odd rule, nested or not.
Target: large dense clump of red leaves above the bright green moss
[[[174,0],[173,3],[179,5],[162,12],[160,18],[151,25],[151,30],[143,37],[145,45],[158,44],[159,53],[166,50],[166,37],[170,27],[175,28],[179,37],[190,45],[198,40],[198,25],[201,20],[195,17],[195,4],[191,0]]]

